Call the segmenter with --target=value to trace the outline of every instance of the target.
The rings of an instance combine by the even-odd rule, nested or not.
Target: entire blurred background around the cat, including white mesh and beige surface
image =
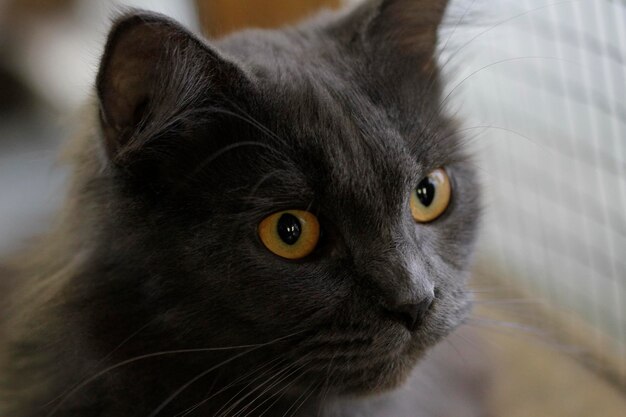
[[[217,37],[358,1],[0,0],[0,258],[59,206],[117,11]],[[485,185],[468,325],[494,415],[626,415],[626,1],[452,0],[439,61]]]

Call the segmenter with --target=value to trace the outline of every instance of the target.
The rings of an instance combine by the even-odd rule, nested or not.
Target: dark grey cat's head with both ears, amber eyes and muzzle
[[[247,366],[299,361],[338,392],[401,382],[469,305],[478,185],[443,113],[445,5],[371,1],[211,43],[119,19],[86,186],[109,187],[107,303],[156,320],[154,343],[275,341]]]

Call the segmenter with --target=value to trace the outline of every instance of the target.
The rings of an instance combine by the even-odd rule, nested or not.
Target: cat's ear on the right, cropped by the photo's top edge
[[[382,62],[398,60],[434,68],[437,31],[448,0],[374,0],[363,7],[367,14],[362,36],[365,47]]]

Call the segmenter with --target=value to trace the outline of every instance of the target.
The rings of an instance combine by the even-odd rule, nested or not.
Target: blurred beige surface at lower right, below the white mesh
[[[626,415],[624,393],[570,357],[565,352],[569,347],[508,328],[505,323],[520,323],[520,318],[507,307],[478,308],[475,315],[493,320],[480,326],[480,333],[495,373],[490,395],[494,416]]]

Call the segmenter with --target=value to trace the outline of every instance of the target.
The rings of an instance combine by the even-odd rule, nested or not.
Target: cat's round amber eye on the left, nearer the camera
[[[259,224],[259,237],[276,255],[302,259],[315,250],[320,238],[320,224],[308,211],[279,211]]]

